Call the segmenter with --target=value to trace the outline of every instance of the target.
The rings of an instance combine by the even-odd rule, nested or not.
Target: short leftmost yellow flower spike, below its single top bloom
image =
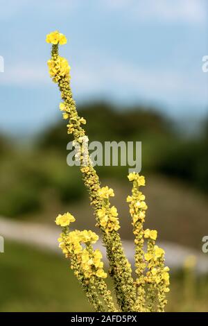
[[[92,244],[96,243],[97,240],[98,235],[91,230],[68,232],[65,228],[58,239],[62,252],[67,258],[71,259],[71,269],[78,277],[94,309],[100,312],[105,311],[101,301],[101,298],[103,298],[107,311],[116,311],[112,295],[107,290],[107,285],[104,281],[107,273],[103,270],[101,251],[98,249],[93,250],[92,248]]]

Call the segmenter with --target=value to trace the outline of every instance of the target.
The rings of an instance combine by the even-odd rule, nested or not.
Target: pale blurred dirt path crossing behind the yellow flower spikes
[[[52,226],[49,227],[37,223],[23,223],[8,218],[0,218],[0,235],[4,238],[5,247],[6,241],[12,240],[35,246],[41,250],[51,250],[61,253],[57,242],[59,234],[60,229]],[[128,259],[132,262],[134,252],[132,241],[123,241],[123,246]],[[197,271],[200,273],[208,273],[208,254],[206,255],[197,250],[189,249],[171,242],[161,242],[159,246],[162,246],[166,251],[166,265],[171,268],[180,268],[184,264],[184,259],[186,259],[187,256],[195,255],[197,259]],[[105,257],[105,248],[102,246],[101,241],[98,242],[97,247],[101,249]]]

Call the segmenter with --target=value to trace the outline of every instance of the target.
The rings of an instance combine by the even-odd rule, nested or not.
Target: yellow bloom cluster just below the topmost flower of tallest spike
[[[71,67],[67,59],[58,56],[55,60],[48,60],[49,74],[55,83],[61,79],[61,77],[69,78],[69,71]]]

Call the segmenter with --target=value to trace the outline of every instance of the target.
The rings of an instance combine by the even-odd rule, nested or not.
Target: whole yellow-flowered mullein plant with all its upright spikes
[[[89,192],[90,204],[94,208],[96,226],[101,230],[106,248],[109,260],[108,275],[113,280],[116,302],[105,283],[107,273],[104,271],[101,251],[93,248],[94,243],[98,241],[98,235],[91,230],[71,230],[69,226],[75,218],[69,212],[60,214],[55,219],[55,223],[62,228],[58,239],[59,246],[65,257],[70,260],[71,269],[95,311],[162,312],[167,303],[166,293],[169,291],[169,268],[164,266],[164,250],[155,244],[157,231],[144,230],[148,207],[140,189],[145,186],[145,178],[135,172],[128,175],[129,181],[132,182],[132,194],[128,196],[127,202],[135,234],[136,276],[133,277],[132,267],[125,257],[118,232],[120,228],[118,212],[110,203],[114,191],[107,186],[101,187],[89,152],[86,153],[86,148],[83,146],[88,141],[83,128],[86,121],[78,116],[71,93],[71,68],[67,59],[62,58],[58,52],[59,45],[66,44],[67,38],[55,31],[46,35],[46,42],[52,44],[48,67],[53,82],[57,83],[60,89],[62,98],[60,111],[63,119],[67,121],[68,134],[73,135],[76,144],[80,144],[78,153],[80,171]]]

